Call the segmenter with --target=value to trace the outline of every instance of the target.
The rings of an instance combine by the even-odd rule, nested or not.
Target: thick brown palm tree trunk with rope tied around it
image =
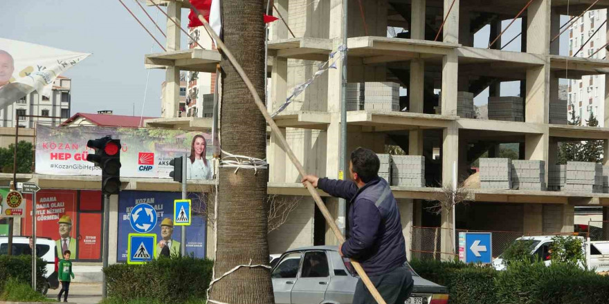
[[[222,1],[224,44],[264,100],[262,0]],[[234,155],[266,158],[266,122],[226,57],[222,58],[221,148]],[[223,153],[223,156],[224,153]],[[238,265],[268,265],[266,182],[269,172],[221,168],[215,277]],[[269,269],[242,267],[213,285],[210,299],[230,304],[274,303]]]

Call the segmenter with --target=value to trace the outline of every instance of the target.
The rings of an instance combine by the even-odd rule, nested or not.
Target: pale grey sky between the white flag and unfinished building
[[[134,0],[122,0],[147,28],[163,37]],[[166,17],[153,6],[146,8],[165,30]],[[188,10],[182,10],[182,21]],[[71,77],[72,115],[112,110],[118,115],[140,115],[146,88],[144,55],[151,53],[152,38],[118,0],[0,0],[3,38],[93,53],[64,76]],[[184,26],[183,26],[184,27]],[[185,36],[185,35],[183,35]],[[185,46],[186,39],[181,42]],[[152,53],[161,52],[154,46]],[[161,84],[165,70],[151,70],[144,106],[145,116],[161,115]]]

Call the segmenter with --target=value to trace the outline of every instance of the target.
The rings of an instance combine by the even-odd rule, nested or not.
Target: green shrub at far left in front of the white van
[[[36,263],[37,279],[36,285],[38,290],[42,290],[46,284],[46,263],[42,258],[38,258]],[[32,282],[32,256],[0,256],[0,292],[3,289],[3,283],[9,278],[14,278],[21,283],[30,284]]]

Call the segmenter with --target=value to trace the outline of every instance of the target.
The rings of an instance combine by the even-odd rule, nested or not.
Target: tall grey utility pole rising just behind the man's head
[[[343,48],[347,48],[347,0],[343,0]],[[340,157],[338,158],[338,179],[345,180],[345,158],[347,156],[347,54],[343,55],[343,69],[340,72]],[[347,227],[347,200],[338,199],[338,228],[345,235]]]

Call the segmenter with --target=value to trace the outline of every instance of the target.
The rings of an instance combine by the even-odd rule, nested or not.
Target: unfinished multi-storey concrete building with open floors
[[[164,2],[169,3],[169,10],[177,19],[180,6],[188,5],[183,1]],[[514,231],[515,235],[571,232],[575,206],[609,206],[609,194],[566,191],[567,187],[548,191],[545,187],[552,180],[549,175],[558,162],[560,142],[604,140],[604,154],[609,155],[609,129],[567,125],[566,100],[558,99],[559,79],[581,79],[583,75],[609,70],[606,59],[559,55],[560,39],[555,39],[564,29],[561,15],[568,12],[579,16],[593,2],[362,0],[360,6],[359,1],[349,1],[347,82],[352,88],[348,92],[353,94],[347,95],[352,110],[347,112],[347,150],[364,146],[385,153],[387,146],[399,146],[408,155],[424,158],[425,187],[392,187],[401,210],[409,256],[411,251],[426,251],[417,247],[425,242],[421,240],[424,236],[417,236],[412,227],[451,227],[452,219],[446,212],[436,215],[428,211],[434,193],[442,185],[453,184],[455,176],[460,182],[469,178],[473,162],[483,153],[498,158],[500,144],[516,145],[518,160],[540,161],[531,162],[536,168],[518,162],[515,169],[508,169],[516,173],[534,169],[537,176],[525,178],[535,182],[520,180],[518,184],[527,182],[539,189],[473,187],[469,190],[469,205],[456,209],[457,229]],[[295,86],[311,79],[323,63],[338,62],[336,68],[316,77],[306,91],[291,99],[287,109],[275,116],[305,169],[337,178],[342,72],[337,58],[344,48],[343,1],[275,0],[274,5],[287,26],[274,23],[269,37],[269,112],[282,106]],[[609,1],[601,0],[594,9],[608,6]],[[513,19],[519,12],[522,33],[516,39],[520,39],[521,50],[501,50],[512,38],[500,35],[505,28],[501,22]],[[485,26],[490,26],[491,32],[488,44],[474,47],[475,33]],[[404,31],[388,37],[389,27]],[[220,59],[217,51],[172,48],[172,37],[179,35],[167,32],[170,51],[147,55],[147,66],[167,68],[167,82],[173,79],[176,88],[179,70],[215,72]],[[179,41],[173,46],[179,46]],[[515,96],[502,95],[502,82],[520,82],[520,92]],[[365,91],[379,83],[398,84],[402,88],[398,92],[407,93],[388,93],[385,99],[378,100],[366,95]],[[489,119],[476,119],[471,99],[486,88],[490,91]],[[209,119],[172,118],[176,116],[177,92],[165,91],[165,119],[151,121],[149,126],[210,126]],[[609,101],[608,93],[605,100]],[[273,134],[269,134],[267,159],[271,170],[269,193],[307,195],[298,172]],[[605,161],[609,164],[607,158]],[[511,185],[513,178],[505,182]],[[331,212],[338,214],[337,200],[328,196],[324,199]],[[607,207],[603,210],[604,219],[609,220]],[[309,198],[300,203],[292,217],[269,235],[273,253],[299,245],[336,243]],[[454,253],[451,230],[439,229],[438,233],[440,241],[430,250],[448,258]]]

